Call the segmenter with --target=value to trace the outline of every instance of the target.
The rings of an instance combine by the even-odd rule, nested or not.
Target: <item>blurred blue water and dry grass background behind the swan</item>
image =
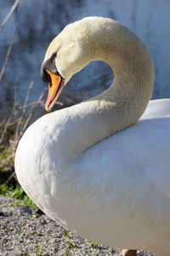
[[[42,83],[39,73],[49,42],[65,25],[84,16],[110,17],[131,28],[144,41],[154,60],[156,81],[152,97],[170,97],[169,10],[169,0],[1,0],[2,152],[11,145],[15,148],[26,127],[44,113],[42,102],[47,91],[44,95],[42,92],[47,85]],[[90,63],[67,84],[56,108],[98,94],[112,79],[113,74],[106,63]],[[14,149],[11,152],[14,156]],[[0,156],[1,163],[4,155]]]

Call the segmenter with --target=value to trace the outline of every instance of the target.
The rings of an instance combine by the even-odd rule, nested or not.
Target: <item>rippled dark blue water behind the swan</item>
[[[14,1],[0,1],[0,23]],[[170,1],[169,0],[25,0],[0,32],[0,70],[8,44],[14,37],[8,66],[0,82],[0,107],[7,108],[17,98],[23,102],[26,90],[35,81],[30,101],[42,93],[45,84],[39,70],[43,55],[54,36],[68,23],[87,15],[102,15],[120,20],[139,35],[150,49],[156,67],[154,98],[170,97]],[[14,28],[16,26],[15,32]],[[104,62],[91,63],[76,74],[65,88],[82,99],[105,90],[113,76]]]

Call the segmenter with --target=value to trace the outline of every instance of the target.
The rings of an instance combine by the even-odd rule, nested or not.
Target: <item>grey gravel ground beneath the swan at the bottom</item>
[[[119,249],[83,240],[34,209],[14,207],[14,199],[0,195],[0,256],[120,255]],[[138,256],[154,256],[140,251]]]

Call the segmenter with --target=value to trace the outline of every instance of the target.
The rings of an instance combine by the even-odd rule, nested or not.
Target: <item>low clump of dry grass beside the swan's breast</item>
[[[15,97],[11,112],[0,121],[0,172],[6,172],[6,174],[8,172],[5,183],[14,177],[14,154],[20,137],[27,127],[42,115],[42,97],[45,90],[36,102],[30,103],[29,97],[33,84],[34,82],[31,81],[23,105],[20,106]],[[3,173],[2,176],[5,177],[5,174]],[[0,183],[2,183],[1,176]]]

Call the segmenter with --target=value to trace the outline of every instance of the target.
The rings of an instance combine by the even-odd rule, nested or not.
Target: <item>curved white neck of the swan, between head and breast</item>
[[[103,38],[102,42],[99,38],[94,49],[91,61],[105,61],[113,69],[115,79],[111,87],[61,113],[67,121],[59,145],[66,140],[67,154],[82,153],[94,143],[133,125],[144,113],[153,87],[152,61],[144,44],[133,33],[128,30],[126,33],[122,44],[120,38],[116,42],[113,33],[114,40],[110,37],[105,42]]]

